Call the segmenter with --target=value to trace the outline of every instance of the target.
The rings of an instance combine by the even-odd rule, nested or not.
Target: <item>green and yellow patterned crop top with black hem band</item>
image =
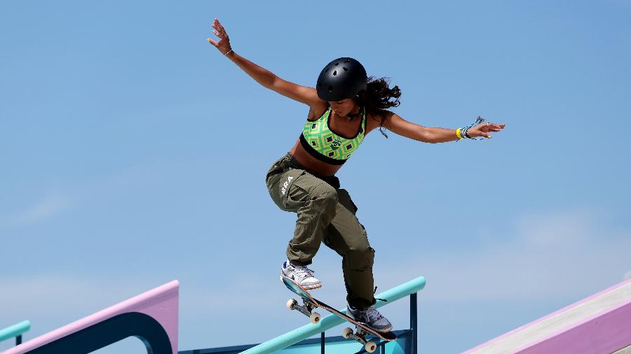
[[[366,109],[357,134],[351,139],[335,134],[329,127],[331,106],[318,120],[307,120],[300,134],[304,150],[316,159],[328,164],[344,164],[364,140],[366,132]]]

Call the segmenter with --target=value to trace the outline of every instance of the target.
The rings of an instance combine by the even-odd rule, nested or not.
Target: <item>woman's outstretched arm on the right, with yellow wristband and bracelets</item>
[[[447,141],[456,141],[466,137],[462,135],[463,132],[459,129],[423,127],[422,125],[408,122],[392,112],[386,112],[386,119],[383,125],[395,134],[416,141],[423,141],[423,143],[446,143]],[[469,138],[484,137],[491,139],[490,132],[499,132],[504,127],[505,125],[503,124],[482,123],[475,127],[470,127],[467,130],[467,135]],[[461,136],[458,136],[457,133],[461,133]]]

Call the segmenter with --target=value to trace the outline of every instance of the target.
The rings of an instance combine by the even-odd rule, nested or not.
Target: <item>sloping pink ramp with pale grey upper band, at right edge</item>
[[[631,279],[464,354],[631,354]]]

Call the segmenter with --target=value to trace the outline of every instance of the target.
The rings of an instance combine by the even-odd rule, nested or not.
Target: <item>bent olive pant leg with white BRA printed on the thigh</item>
[[[301,169],[271,174],[268,189],[284,211],[297,213],[294,236],[287,245],[287,259],[306,266],[318,253],[324,229],[330,225],[337,206],[337,190]]]

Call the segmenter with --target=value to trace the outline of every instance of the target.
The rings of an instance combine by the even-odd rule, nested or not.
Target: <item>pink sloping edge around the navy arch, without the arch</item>
[[[170,283],[144,292],[136,297],[132,297],[124,302],[94,313],[93,315],[81,318],[81,320],[70,323],[69,325],[57,328],[57,330],[26,341],[19,346],[4,351],[4,354],[20,354],[32,351],[56,339],[66,337],[69,334],[83,330],[91,325],[128,312],[144,313],[158,321],[169,336],[173,354],[177,354],[178,297],[179,281],[171,281]]]

